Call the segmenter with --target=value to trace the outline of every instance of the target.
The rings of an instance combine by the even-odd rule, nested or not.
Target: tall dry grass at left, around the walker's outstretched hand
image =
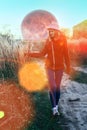
[[[14,39],[9,34],[0,34],[0,78],[17,79],[20,67],[27,61],[36,60],[35,58],[24,57],[24,52],[28,52],[28,48],[30,51],[40,51],[43,45],[44,41],[37,44],[37,42]]]

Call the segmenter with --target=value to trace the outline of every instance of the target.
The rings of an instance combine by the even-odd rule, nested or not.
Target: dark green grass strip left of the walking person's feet
[[[48,91],[32,93],[36,116],[24,130],[62,130],[59,117],[53,117]],[[60,116],[61,118],[61,116]]]

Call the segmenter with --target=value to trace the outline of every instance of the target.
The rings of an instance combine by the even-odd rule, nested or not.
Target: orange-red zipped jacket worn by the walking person
[[[53,70],[63,70],[66,65],[70,69],[70,59],[65,36],[52,41],[47,39],[44,49],[40,53],[29,53],[31,57],[42,57],[46,55],[46,67]]]

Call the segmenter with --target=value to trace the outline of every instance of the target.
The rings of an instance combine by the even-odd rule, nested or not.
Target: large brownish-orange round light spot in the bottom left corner
[[[0,130],[22,130],[34,117],[30,96],[15,83],[0,83]]]

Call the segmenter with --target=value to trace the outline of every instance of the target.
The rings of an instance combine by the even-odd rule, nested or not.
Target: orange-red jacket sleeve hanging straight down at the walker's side
[[[66,69],[70,70],[70,57],[69,57],[66,38],[64,39],[64,60],[65,60]]]

